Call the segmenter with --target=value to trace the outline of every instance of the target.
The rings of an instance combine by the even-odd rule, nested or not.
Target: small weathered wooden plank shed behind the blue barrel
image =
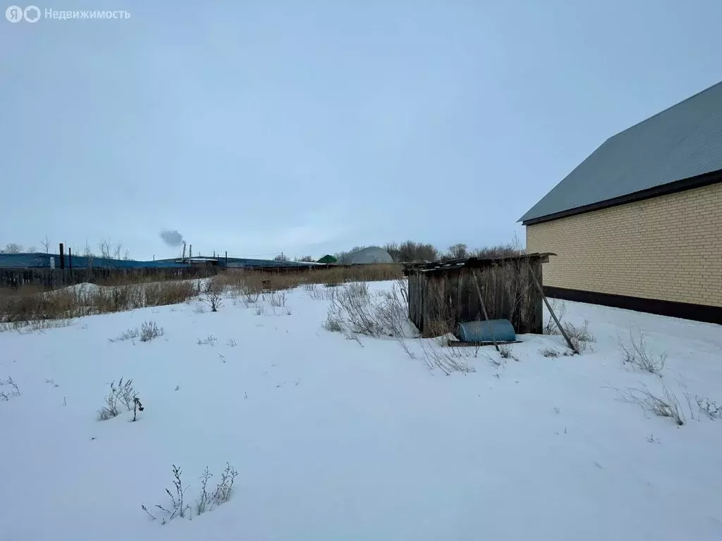
[[[509,320],[518,334],[541,334],[543,299],[541,265],[550,252],[492,259],[457,259],[406,265],[409,319],[424,337],[456,331],[460,322],[483,320],[476,276],[489,319]]]

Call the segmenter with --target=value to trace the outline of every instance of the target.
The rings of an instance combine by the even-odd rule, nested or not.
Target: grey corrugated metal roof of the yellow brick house
[[[722,170],[722,82],[607,139],[519,221]]]

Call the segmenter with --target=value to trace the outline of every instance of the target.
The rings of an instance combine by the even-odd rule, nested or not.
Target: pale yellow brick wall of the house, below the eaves
[[[544,285],[722,307],[722,183],[526,227]]]

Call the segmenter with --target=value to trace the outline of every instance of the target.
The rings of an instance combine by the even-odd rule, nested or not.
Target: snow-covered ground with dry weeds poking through
[[[405,340],[413,359],[348,340],[322,327],[328,300],[286,294],[0,333],[0,539],[722,539],[722,419],[695,402],[722,403],[722,327],[567,302],[593,351],[547,358],[562,338],[525,335],[518,361],[464,348],[476,371],[447,377],[423,362],[434,340]],[[145,321],[164,334],[110,342]],[[622,364],[630,325],[666,352],[661,378]],[[144,411],[97,421],[120,377]],[[684,426],[614,390],[663,382]],[[227,462],[230,500],[198,516],[204,468],[214,486]],[[162,525],[172,465],[192,518]]]

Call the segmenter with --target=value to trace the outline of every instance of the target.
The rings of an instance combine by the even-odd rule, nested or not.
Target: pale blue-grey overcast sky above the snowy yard
[[[58,0],[0,19],[0,245],[172,257],[508,242],[722,79],[720,0]]]

